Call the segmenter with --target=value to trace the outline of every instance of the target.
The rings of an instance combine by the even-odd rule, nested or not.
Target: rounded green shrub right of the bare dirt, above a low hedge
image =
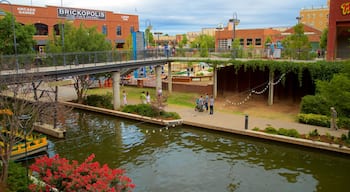
[[[300,113],[330,115],[329,102],[319,95],[306,95],[300,103]]]

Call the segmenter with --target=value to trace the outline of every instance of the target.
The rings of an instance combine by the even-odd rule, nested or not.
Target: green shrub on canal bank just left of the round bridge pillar
[[[94,107],[113,109],[112,99],[112,93],[107,93],[106,95],[88,95],[84,103]]]

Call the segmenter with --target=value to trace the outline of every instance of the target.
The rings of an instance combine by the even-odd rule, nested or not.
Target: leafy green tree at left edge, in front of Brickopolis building
[[[6,13],[6,16],[0,20],[0,54],[14,55],[14,39],[12,21],[15,19],[12,14]],[[35,41],[33,35],[35,28],[33,25],[21,25],[15,22],[16,44],[18,54],[27,54],[33,52]]]

